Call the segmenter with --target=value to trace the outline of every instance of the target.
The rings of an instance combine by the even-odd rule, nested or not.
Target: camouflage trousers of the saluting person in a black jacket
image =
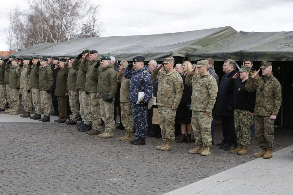
[[[235,133],[238,145],[250,145],[250,127],[253,124],[253,115],[249,115],[249,110],[234,110]]]

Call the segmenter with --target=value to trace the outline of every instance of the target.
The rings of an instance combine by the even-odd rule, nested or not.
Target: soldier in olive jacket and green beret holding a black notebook
[[[113,130],[116,129],[114,120],[114,98],[117,91],[117,73],[114,70],[114,65],[111,63],[111,58],[104,56],[102,58],[101,67],[98,68],[98,97],[100,101],[100,112],[103,121],[105,122],[105,132],[99,134],[99,137],[111,138],[114,136]],[[104,100],[103,95],[108,94],[107,100]]]

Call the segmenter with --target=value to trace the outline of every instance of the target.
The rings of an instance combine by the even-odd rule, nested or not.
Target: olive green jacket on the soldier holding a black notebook
[[[103,98],[103,93],[109,93],[108,98],[114,100],[117,91],[117,73],[111,63],[106,67],[98,67],[98,93]]]

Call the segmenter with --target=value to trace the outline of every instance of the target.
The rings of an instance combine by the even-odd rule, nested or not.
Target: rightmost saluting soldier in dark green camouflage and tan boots
[[[254,79],[262,70],[262,77]],[[248,79],[245,89],[256,91],[254,108],[255,137],[261,151],[254,157],[271,158],[274,147],[274,121],[281,106],[281,84],[273,76],[271,62],[262,62],[262,66],[255,75]]]

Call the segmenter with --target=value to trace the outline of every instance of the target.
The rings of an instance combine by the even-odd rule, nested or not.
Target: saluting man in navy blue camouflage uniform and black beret
[[[135,139],[130,144],[145,145],[147,133],[147,105],[153,94],[151,84],[151,74],[149,68],[144,66],[145,58],[137,56],[132,58],[133,63],[129,63],[123,75],[130,79],[129,101],[132,103],[132,113],[134,127],[136,128]],[[134,71],[131,70],[134,66]],[[138,103],[138,92],[143,92],[144,97]]]

